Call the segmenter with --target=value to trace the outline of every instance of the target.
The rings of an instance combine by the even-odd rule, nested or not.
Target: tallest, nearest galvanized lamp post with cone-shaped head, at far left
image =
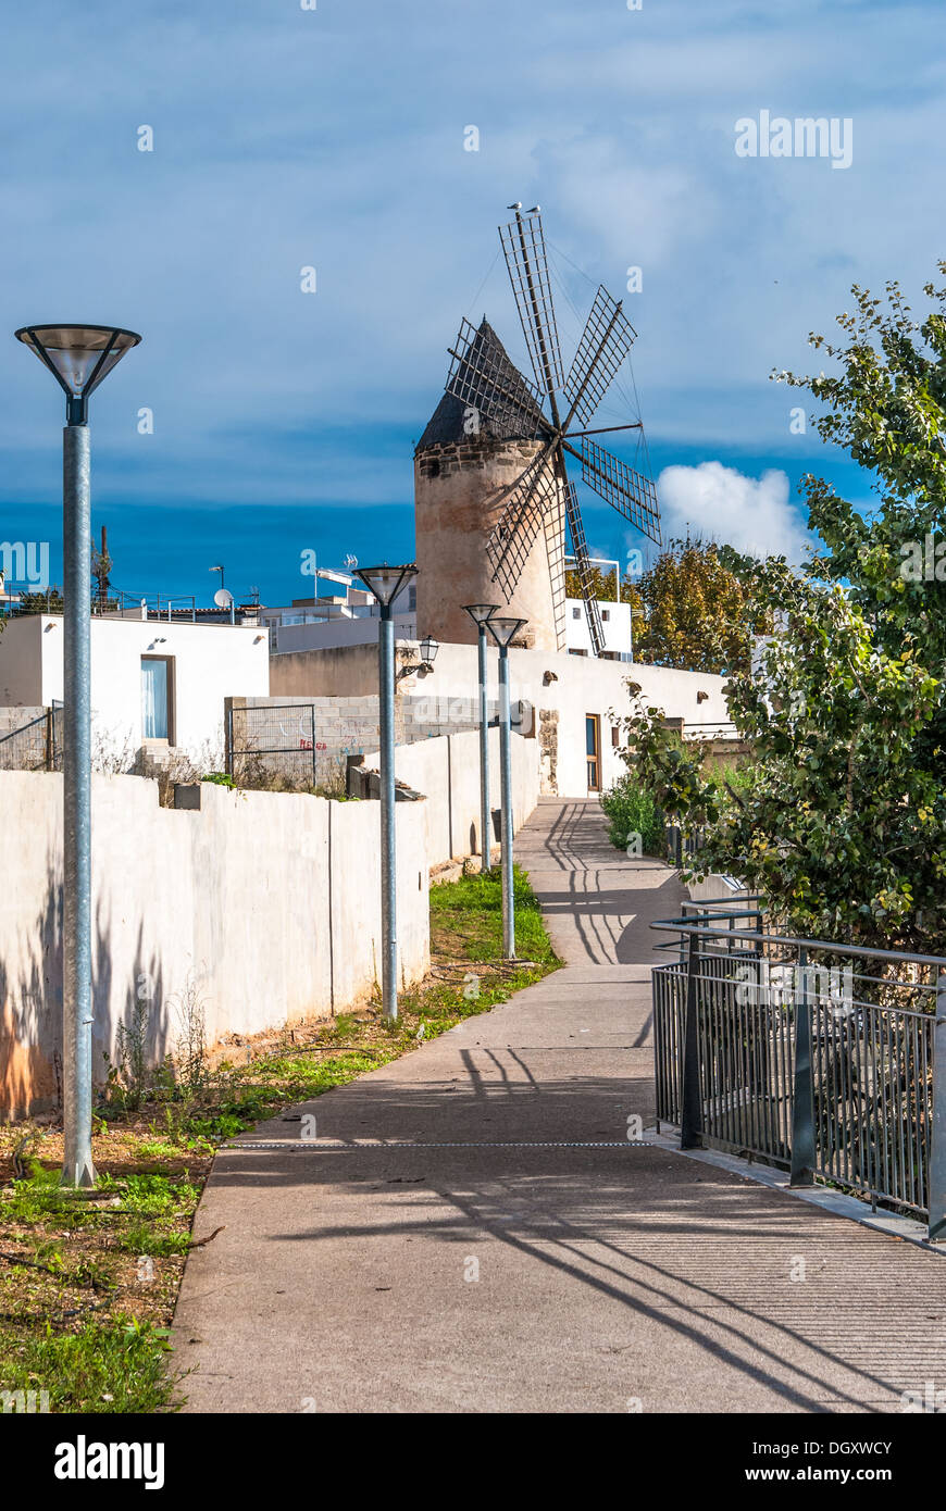
[[[113,325],[24,325],[17,340],[36,352],[66,396],[62,432],[63,618],[63,888],[62,1112],[63,1186],[94,1186],[92,1163],[92,745],[89,697],[89,394],[138,346]]]

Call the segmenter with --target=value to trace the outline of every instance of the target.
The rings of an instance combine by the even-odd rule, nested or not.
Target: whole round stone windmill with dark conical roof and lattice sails
[[[598,289],[565,378],[538,207],[500,227],[506,267],[536,382],[526,379],[484,317],[464,320],[446,393],[414,455],[417,635],[475,641],[464,603],[505,601],[527,620],[523,642],[565,648],[565,526],[595,654],[604,636],[577,494],[582,480],[651,539],[660,539],[653,480],[603,450],[586,429],[635,331]],[[547,406],[547,409],[546,409]],[[641,429],[639,423],[607,426]],[[499,591],[497,591],[499,589]]]

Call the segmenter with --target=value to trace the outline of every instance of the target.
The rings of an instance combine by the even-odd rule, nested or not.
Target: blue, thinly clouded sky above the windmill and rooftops
[[[14,328],[144,334],[92,400],[115,585],[206,600],[224,562],[284,601],[305,550],[411,555],[461,316],[526,366],[514,199],[543,205],[565,364],[597,284],[626,298],[600,423],[639,403],[668,533],[796,556],[808,470],[869,506],[769,373],[821,367],[852,283],[922,302],[946,255],[941,0],[36,0],[5,38],[0,533],[48,539],[53,576],[60,396]],[[762,156],[783,118],[837,122],[834,160]],[[595,553],[642,544],[582,505]]]

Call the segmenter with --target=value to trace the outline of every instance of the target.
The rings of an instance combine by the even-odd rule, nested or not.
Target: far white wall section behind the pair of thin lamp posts
[[[518,830],[538,802],[538,746],[533,739],[512,734],[512,825]],[[378,769],[378,752],[364,757]],[[416,745],[397,745],[394,775],[426,798],[428,861],[481,855],[479,731],[444,734]],[[397,804],[397,810],[405,804]],[[499,813],[499,730],[490,730],[490,808]],[[499,845],[496,828],[490,846]]]

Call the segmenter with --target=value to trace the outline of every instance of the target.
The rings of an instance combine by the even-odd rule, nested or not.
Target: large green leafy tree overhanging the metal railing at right
[[[656,801],[707,825],[700,872],[737,872],[801,934],[943,953],[946,290],[925,293],[917,323],[896,284],[886,302],[855,287],[846,341],[810,338],[840,372],[780,375],[825,405],[819,434],[870,470],[880,506],[864,517],[805,477],[824,544],[802,571],[769,561],[745,580],[750,618],[772,613],[775,633],[727,686],[754,745],[740,789],[707,775],[700,748],[674,748],[659,710],[638,703],[627,730]],[[917,580],[904,567],[928,536],[932,576]]]

